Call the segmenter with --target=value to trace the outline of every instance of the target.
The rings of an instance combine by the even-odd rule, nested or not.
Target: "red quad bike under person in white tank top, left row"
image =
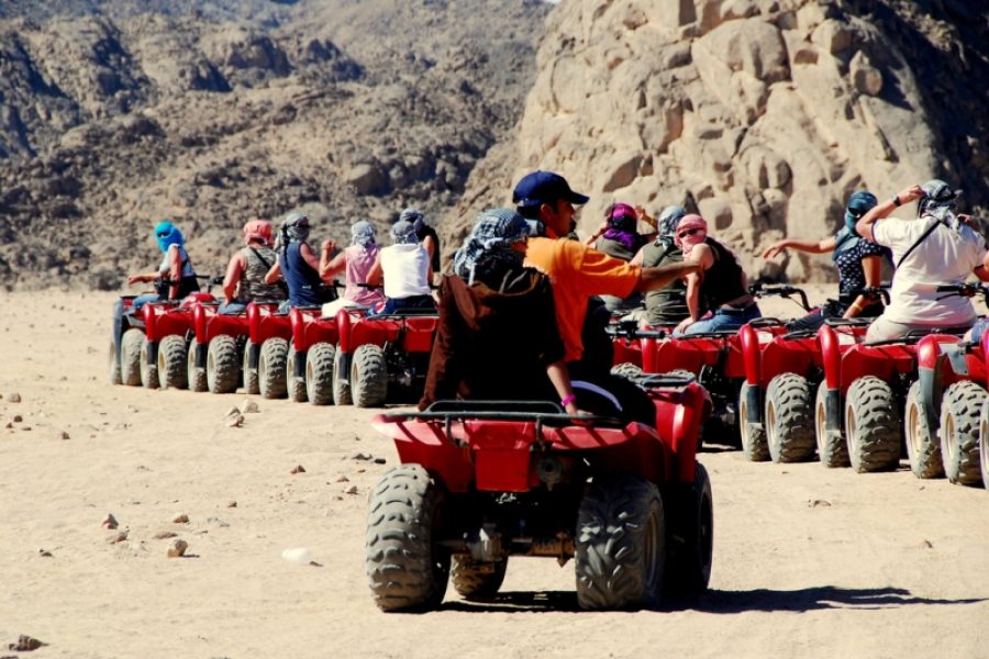
[[[340,343],[334,378],[346,381],[358,407],[415,402],[425,387],[440,315],[435,309],[391,314],[337,313]]]

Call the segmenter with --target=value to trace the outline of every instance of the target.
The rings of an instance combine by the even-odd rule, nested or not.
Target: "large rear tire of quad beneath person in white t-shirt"
[[[900,411],[892,388],[875,376],[852,382],[845,396],[848,461],[858,473],[891,471],[900,463]]]

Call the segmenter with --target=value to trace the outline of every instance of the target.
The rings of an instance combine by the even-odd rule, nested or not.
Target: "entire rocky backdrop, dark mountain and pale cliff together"
[[[534,168],[585,231],[679,202],[826,279],[757,255],[863,187],[989,208],[987,37],[963,0],[0,0],[0,282],[115,289],[166,216],[215,272],[293,208],[343,241],[414,204],[448,252]]]

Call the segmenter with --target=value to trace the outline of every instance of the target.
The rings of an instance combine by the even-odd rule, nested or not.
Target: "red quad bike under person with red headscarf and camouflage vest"
[[[241,384],[242,371],[247,373],[246,347],[251,332],[251,308],[260,308],[268,312],[278,309],[278,304],[257,304],[252,302],[244,313],[221,314],[219,304],[200,304],[192,310],[192,340],[189,344],[187,362],[176,364],[174,377],[185,378],[189,389],[193,391],[209,390],[212,393],[233,393]],[[254,314],[259,313],[255,309]],[[178,351],[178,347],[176,347]],[[244,381],[248,393],[257,393],[257,369],[255,380]]]

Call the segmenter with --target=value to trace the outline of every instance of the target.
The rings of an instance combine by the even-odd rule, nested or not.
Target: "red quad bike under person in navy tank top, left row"
[[[292,323],[301,324],[321,313],[319,306],[297,306],[279,312],[274,305],[247,305],[247,342],[244,344],[244,387],[247,393],[266,399],[291,394],[295,401],[305,401],[305,382],[295,377]],[[295,320],[293,320],[295,319]],[[305,356],[302,356],[304,365]],[[304,377],[304,370],[303,377]],[[300,381],[301,380],[301,381]]]

